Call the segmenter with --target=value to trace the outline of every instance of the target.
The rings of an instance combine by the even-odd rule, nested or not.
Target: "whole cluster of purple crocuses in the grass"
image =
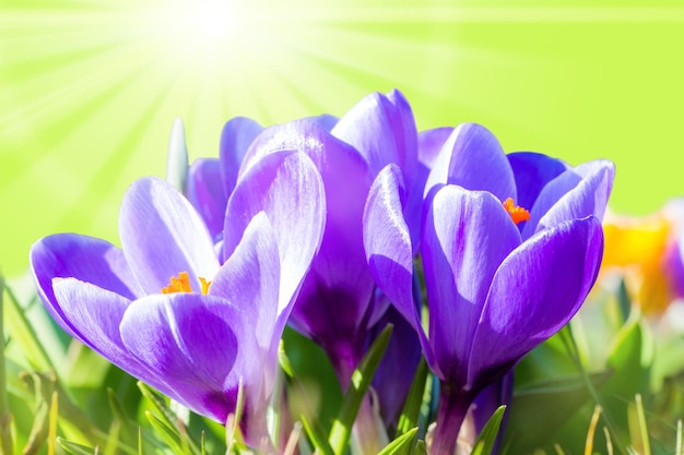
[[[423,355],[440,384],[431,452],[452,454],[472,404],[505,400],[507,373],[589,292],[613,177],[606,160],[507,155],[477,124],[418,132],[393,91],[340,119],[233,119],[220,157],[190,166],[186,197],[155,178],[130,188],[120,249],[64,234],[31,260],[67,332],[169,397],[223,422],[241,382],[246,440],[268,450],[285,324],[344,390],[393,321],[374,382],[384,423],[364,402],[357,447],[387,442]]]

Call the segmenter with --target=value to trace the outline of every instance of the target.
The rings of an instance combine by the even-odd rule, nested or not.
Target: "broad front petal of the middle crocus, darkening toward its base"
[[[247,152],[243,171],[273,151],[298,147],[316,164],[325,185],[327,212],[321,247],[311,263],[290,324],[319,343],[346,387],[365,339],[374,282],[362,240],[363,207],[370,187],[367,163],[349,144],[306,120],[271,127]],[[226,221],[227,223],[227,221]],[[237,238],[224,239],[229,253]],[[351,354],[350,354],[351,352]],[[350,358],[352,356],[353,358]]]

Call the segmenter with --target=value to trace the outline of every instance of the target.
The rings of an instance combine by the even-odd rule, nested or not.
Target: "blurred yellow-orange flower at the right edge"
[[[630,300],[647,314],[662,314],[684,298],[684,199],[642,217],[609,213],[603,231],[602,282],[624,277]]]

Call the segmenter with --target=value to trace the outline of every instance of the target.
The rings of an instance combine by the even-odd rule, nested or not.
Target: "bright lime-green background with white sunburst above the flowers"
[[[681,0],[0,0],[0,272],[39,237],[117,239],[138,177],[234,116],[343,115],[401,89],[420,129],[616,163],[610,206],[684,194]]]

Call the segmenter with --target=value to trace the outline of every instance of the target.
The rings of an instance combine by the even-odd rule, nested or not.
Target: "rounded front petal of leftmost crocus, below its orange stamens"
[[[129,307],[120,331],[126,347],[164,378],[172,397],[219,422],[235,411],[240,376],[248,394],[260,387],[255,366],[262,352],[251,342],[253,327],[224,299],[185,292],[150,296]]]

